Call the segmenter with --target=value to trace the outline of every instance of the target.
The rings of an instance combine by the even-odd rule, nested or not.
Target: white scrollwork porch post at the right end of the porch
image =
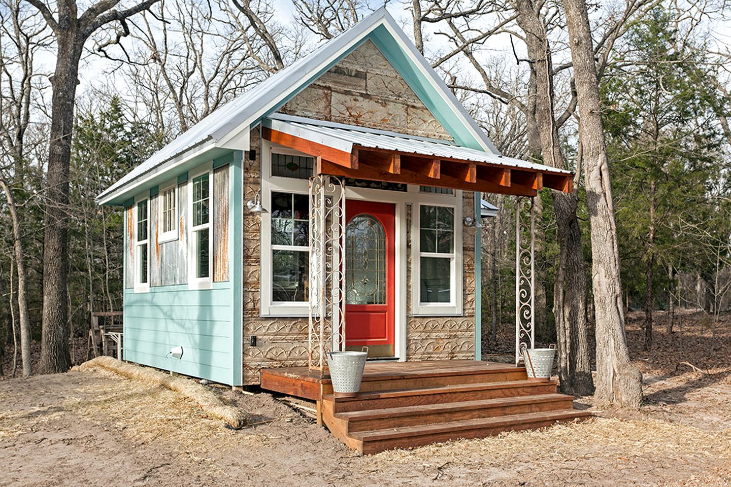
[[[520,347],[535,345],[534,246],[535,209],[533,198],[518,197],[515,202],[515,364],[522,359]]]

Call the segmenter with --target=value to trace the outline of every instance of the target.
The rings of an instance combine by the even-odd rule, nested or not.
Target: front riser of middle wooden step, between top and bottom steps
[[[420,426],[433,423],[447,423],[475,418],[495,418],[512,414],[542,413],[545,411],[567,410],[573,407],[571,398],[561,401],[533,402],[529,404],[515,404],[502,407],[482,407],[469,410],[447,410],[439,413],[414,414],[409,416],[384,417],[374,419],[350,419],[347,421],[346,432],[371,431],[374,429],[395,428],[398,426]]]

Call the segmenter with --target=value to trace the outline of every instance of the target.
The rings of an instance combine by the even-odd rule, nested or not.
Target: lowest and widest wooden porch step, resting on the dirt
[[[544,411],[497,418],[474,418],[421,426],[376,429],[354,432],[348,436],[352,440],[349,445],[353,448],[357,448],[362,453],[378,453],[393,448],[410,448],[460,438],[488,437],[510,430],[541,428],[559,421],[572,421],[590,416],[591,413],[577,410]]]

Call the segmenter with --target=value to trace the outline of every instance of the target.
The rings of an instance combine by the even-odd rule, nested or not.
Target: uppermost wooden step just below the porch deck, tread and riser
[[[419,406],[446,402],[478,401],[500,397],[533,396],[555,394],[556,382],[532,380],[510,380],[507,382],[461,384],[398,391],[378,391],[358,394],[355,397],[335,398],[325,394],[322,399],[333,402],[333,413],[383,409],[386,407]]]

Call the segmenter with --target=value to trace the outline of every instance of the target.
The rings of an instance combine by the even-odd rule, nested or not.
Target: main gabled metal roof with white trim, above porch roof
[[[240,145],[248,144],[248,133],[245,136],[247,140],[238,142],[239,146],[232,142],[232,137],[242,131],[248,131],[249,127],[258,123],[262,116],[277,110],[291,96],[306,88],[309,83],[329,69],[330,65],[335,64],[350,50],[355,49],[360,42],[364,42],[368,35],[379,27],[386,28],[390,36],[398,42],[398,45],[404,50],[408,62],[417,66],[417,70],[428,79],[431,89],[436,90],[439,96],[449,104],[452,111],[461,120],[465,131],[469,132],[473,139],[479,141],[482,148],[497,153],[487,134],[477,126],[452,91],[444,84],[442,78],[429,66],[385,7],[382,7],[352,28],[330,39],[312,53],[272,74],[262,83],[200,120],[191,129],[185,131],[173,142],[154,153],[153,156],[100,193],[96,197],[96,201],[104,204],[118,199],[123,193],[128,193],[137,185],[145,183],[151,177],[151,172],[162,174],[162,172],[172,169],[194,147],[198,149],[226,147],[246,150],[248,146],[240,147]]]

